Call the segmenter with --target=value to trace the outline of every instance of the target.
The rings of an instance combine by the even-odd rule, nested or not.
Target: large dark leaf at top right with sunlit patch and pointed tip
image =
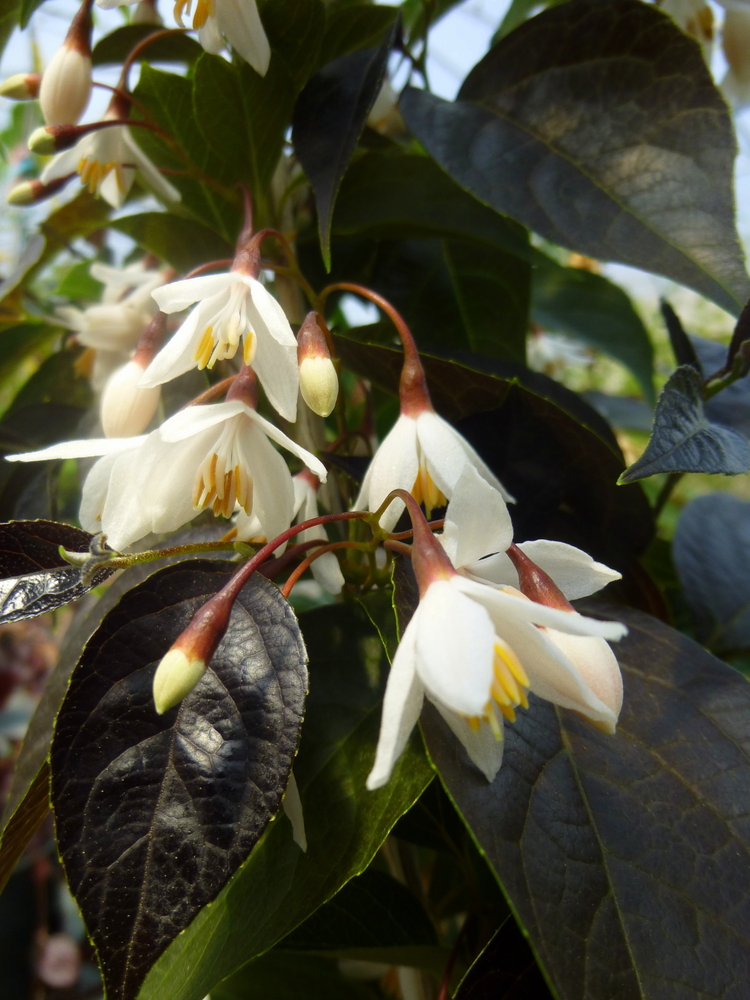
[[[640,0],[571,0],[502,39],[458,100],[407,89],[414,135],[535,232],[737,312],[732,122],[695,42]]]

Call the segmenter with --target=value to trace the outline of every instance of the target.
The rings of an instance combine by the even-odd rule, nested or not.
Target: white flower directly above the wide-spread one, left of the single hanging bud
[[[144,387],[233,358],[243,341],[243,359],[269,402],[286,420],[295,419],[297,341],[284,310],[257,279],[238,271],[186,278],[157,289],[154,298],[166,313],[198,305],[146,369]]]

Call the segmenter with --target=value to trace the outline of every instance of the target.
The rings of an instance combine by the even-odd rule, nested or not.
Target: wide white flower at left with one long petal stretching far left
[[[325,480],[314,455],[240,400],[187,407],[146,437],[68,441],[10,461],[104,456],[84,483],[80,521],[115,549],[174,531],[205,508],[229,517],[235,503],[274,537],[291,522],[294,487],[269,438]]]

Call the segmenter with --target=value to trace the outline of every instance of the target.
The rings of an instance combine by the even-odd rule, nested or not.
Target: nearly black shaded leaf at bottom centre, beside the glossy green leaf
[[[436,944],[435,929],[414,894],[385,872],[368,868],[284,938],[281,947],[341,953]]]

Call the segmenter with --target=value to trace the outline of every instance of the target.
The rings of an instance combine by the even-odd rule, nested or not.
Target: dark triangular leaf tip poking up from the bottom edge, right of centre
[[[553,1000],[529,943],[509,917],[461,981],[456,1000]]]

